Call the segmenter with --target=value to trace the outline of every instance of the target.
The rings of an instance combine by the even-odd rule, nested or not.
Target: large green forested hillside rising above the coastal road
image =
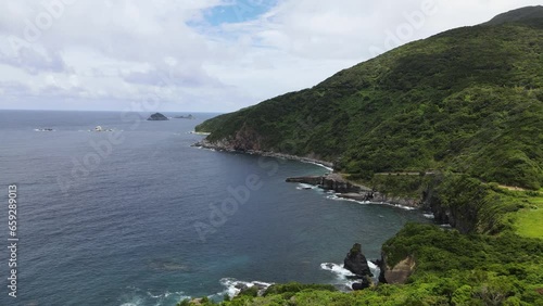
[[[232,150],[334,162],[353,178],[449,169],[543,186],[543,8],[408,43],[197,127]]]

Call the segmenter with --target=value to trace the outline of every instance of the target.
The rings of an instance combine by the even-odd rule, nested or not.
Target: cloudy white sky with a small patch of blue
[[[0,110],[231,112],[541,0],[0,0]]]

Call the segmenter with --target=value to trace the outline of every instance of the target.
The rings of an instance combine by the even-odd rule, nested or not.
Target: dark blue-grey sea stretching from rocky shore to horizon
[[[379,258],[405,222],[428,221],[285,182],[329,171],[318,165],[191,146],[215,114],[149,115],[0,111],[0,305],[175,305],[239,282],[349,284],[341,263],[353,243]]]

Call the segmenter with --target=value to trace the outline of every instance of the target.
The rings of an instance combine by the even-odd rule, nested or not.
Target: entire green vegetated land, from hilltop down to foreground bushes
[[[422,194],[454,227],[411,224],[383,244],[390,266],[415,258],[405,284],[277,284],[223,305],[543,305],[541,72],[543,8],[526,8],[199,126],[231,149],[332,161],[388,194]]]

